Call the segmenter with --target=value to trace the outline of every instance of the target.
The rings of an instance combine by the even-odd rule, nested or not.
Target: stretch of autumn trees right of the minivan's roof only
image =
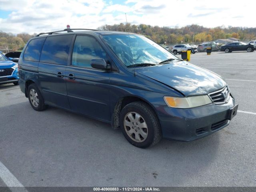
[[[238,38],[244,42],[256,39],[256,28],[232,26],[206,28],[204,26],[192,24],[181,28],[169,28],[146,24],[132,25],[130,23],[120,23],[114,25],[104,25],[98,29],[143,34],[159,44],[164,44],[165,42],[165,44],[201,43],[230,37]]]

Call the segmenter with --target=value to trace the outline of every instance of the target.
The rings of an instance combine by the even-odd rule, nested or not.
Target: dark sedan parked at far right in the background
[[[246,44],[243,42],[232,42],[225,45],[222,45],[220,47],[221,51],[224,51],[226,53],[232,52],[232,51],[247,51],[252,52],[254,51],[255,46],[254,44]]]

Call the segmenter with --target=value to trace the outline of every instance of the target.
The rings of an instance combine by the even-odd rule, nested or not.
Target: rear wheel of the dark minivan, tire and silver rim
[[[42,111],[46,109],[44,98],[35,84],[28,86],[28,100],[34,110]]]

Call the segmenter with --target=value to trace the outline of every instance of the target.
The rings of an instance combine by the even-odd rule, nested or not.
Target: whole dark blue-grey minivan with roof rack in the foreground
[[[20,55],[20,89],[34,110],[50,105],[108,122],[140,148],[202,138],[236,115],[220,76],[145,36],[66,31],[37,35]]]

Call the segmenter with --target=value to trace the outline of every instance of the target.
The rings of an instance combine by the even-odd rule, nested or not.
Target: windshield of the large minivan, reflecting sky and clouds
[[[164,60],[178,59],[152,40],[136,34],[107,34],[102,39],[126,66],[150,66]]]

